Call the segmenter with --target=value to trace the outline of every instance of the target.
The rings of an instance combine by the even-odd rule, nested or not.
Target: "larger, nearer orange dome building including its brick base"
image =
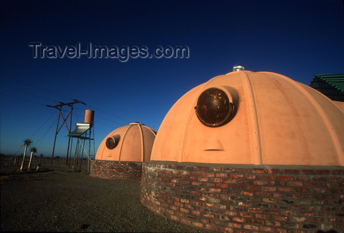
[[[221,232],[343,232],[344,111],[242,66],[184,94],[143,163],[141,203]]]

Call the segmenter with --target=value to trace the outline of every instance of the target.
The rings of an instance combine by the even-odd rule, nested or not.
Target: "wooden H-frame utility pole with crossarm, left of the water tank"
[[[57,125],[56,125],[56,131],[55,131],[55,139],[54,139],[54,146],[53,146],[53,153],[52,153],[51,164],[53,164],[53,159],[54,159],[54,151],[55,151],[55,144],[56,144],[56,136],[57,136],[58,132],[60,131],[62,125],[65,125],[65,126],[66,126],[68,133],[70,133],[70,131],[71,131],[71,127],[72,127],[72,111],[73,111],[73,104],[77,104],[77,103],[85,104],[85,103],[82,102],[82,101],[79,101],[79,100],[76,100],[76,99],[73,99],[73,100],[74,100],[74,102],[69,102],[69,103],[62,103],[62,102],[59,102],[59,104],[54,105],[54,106],[46,105],[47,107],[56,108],[56,109],[58,110],[58,118],[57,118]],[[65,105],[68,105],[68,106],[70,107],[70,111],[69,111],[67,117],[63,117],[63,114],[62,114],[62,106],[65,106]],[[85,105],[86,105],[86,104],[85,104]],[[70,116],[70,121],[69,121],[69,128],[68,128],[67,123],[66,123],[66,120],[68,119],[69,116]],[[62,124],[61,124],[60,126],[58,126],[58,125],[59,125],[60,117],[62,118],[63,122],[62,122]],[[67,165],[67,163],[68,163],[69,144],[70,144],[70,136],[68,136],[68,146],[67,146],[66,165]]]

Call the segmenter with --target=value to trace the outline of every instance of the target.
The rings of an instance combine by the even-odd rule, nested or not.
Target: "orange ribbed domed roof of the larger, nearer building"
[[[184,94],[164,118],[151,160],[344,166],[344,111],[315,89],[237,69]]]

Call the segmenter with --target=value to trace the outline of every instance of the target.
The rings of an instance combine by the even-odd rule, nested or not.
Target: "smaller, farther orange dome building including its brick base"
[[[141,180],[142,162],[150,160],[156,133],[139,122],[115,129],[98,147],[90,175]]]

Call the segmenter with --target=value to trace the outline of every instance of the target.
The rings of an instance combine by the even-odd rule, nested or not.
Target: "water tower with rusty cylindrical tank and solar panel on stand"
[[[89,172],[89,162],[94,159],[94,111],[85,111],[84,122],[76,123],[75,130],[67,136],[76,138],[74,160],[69,162],[69,171],[81,172],[81,170]],[[93,141],[93,144],[91,143]],[[87,170],[82,168],[83,158],[87,157]]]

